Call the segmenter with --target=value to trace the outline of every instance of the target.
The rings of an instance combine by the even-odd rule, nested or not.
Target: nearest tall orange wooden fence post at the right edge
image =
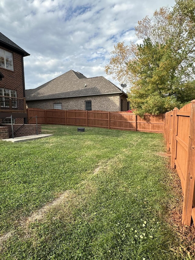
[[[182,224],[190,226],[195,180],[195,100],[191,101],[188,159],[183,197]]]

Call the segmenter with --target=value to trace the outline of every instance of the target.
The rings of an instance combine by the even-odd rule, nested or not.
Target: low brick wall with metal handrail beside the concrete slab
[[[9,128],[9,136],[12,135],[12,125],[6,125]],[[13,125],[13,132],[15,132],[22,124],[14,124]],[[36,124],[34,125],[23,125],[15,134],[14,137],[26,136],[26,135],[33,135],[37,134]],[[41,134],[41,125],[38,125],[38,134]]]

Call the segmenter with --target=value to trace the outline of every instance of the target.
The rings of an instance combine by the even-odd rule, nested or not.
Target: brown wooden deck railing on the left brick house
[[[0,96],[0,112],[26,113],[26,98]]]

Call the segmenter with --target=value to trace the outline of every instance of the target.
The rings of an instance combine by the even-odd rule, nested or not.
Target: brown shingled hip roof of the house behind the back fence
[[[87,78],[72,69],[40,87],[25,90],[25,93],[27,101],[125,94],[105,77]]]

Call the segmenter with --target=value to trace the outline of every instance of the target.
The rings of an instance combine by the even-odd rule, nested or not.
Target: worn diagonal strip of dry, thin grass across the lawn
[[[59,194],[58,198],[55,198],[53,201],[43,205],[43,207],[39,208],[37,211],[33,212],[29,217],[20,219],[18,221],[18,226],[20,226],[25,234],[23,233],[22,236],[30,237],[31,236],[31,229],[30,224],[36,221],[46,221],[47,218],[50,219],[66,219],[67,221],[75,221],[73,216],[73,211],[75,208],[82,208],[87,207],[88,200],[91,194],[95,194],[97,192],[96,183],[93,180],[93,176],[98,174],[100,169],[105,170],[106,168],[111,167],[112,162],[117,164],[119,163],[120,156],[109,160],[109,161],[102,161],[99,165],[94,169],[91,176],[89,176],[88,180],[82,181],[80,184],[77,185],[76,190],[68,190]],[[49,215],[48,215],[49,214]],[[90,220],[90,215],[83,215],[88,221]],[[0,237],[0,244],[14,234],[14,230],[5,233]]]

